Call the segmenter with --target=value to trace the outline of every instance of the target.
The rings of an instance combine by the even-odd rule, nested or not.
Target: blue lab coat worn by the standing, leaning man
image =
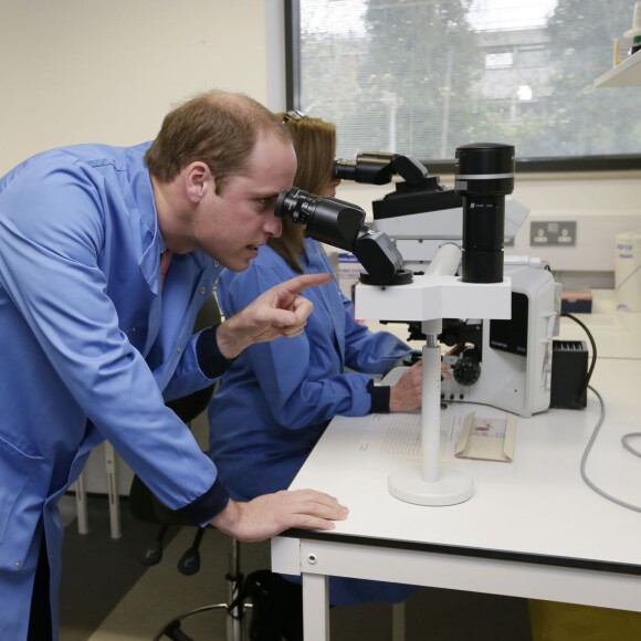
[[[56,637],[56,505],[104,439],[169,507],[207,522],[227,501],[164,404],[212,382],[191,333],[220,269],[177,255],[160,296],[147,147],[51,150],[0,179],[0,639],[27,637],[43,534]]]

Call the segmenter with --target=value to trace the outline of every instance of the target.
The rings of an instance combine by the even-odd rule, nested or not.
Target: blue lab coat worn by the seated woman
[[[306,248],[305,272],[332,272],[316,241],[307,239]],[[221,273],[219,305],[224,314],[235,314],[295,275],[270,246],[262,246],[246,271]],[[285,490],[335,416],[370,412],[371,375],[383,374],[411,353],[393,335],[372,333],[357,323],[351,302],[335,280],[303,295],[314,303],[305,332],[245,349],[210,403],[210,454],[225,487],[241,500]],[[414,589],[333,578],[330,601],[401,601]]]

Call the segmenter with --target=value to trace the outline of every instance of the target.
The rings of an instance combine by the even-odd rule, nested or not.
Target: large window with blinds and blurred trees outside
[[[634,0],[291,0],[290,106],[335,122],[344,158],[438,161],[496,141],[515,145],[530,169],[639,168],[641,87],[593,86],[633,9]]]

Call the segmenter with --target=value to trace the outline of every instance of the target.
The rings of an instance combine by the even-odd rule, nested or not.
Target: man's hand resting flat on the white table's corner
[[[344,507],[328,494],[314,490],[276,492],[248,503],[231,501],[211,521],[217,529],[244,543],[264,540],[291,527],[334,529],[347,518]]]

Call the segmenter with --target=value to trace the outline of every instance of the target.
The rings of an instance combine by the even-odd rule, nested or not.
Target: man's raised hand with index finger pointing
[[[221,354],[225,358],[235,358],[253,343],[302,334],[314,305],[298,294],[330,280],[332,274],[304,274],[263,292],[219,326],[216,336]]]

